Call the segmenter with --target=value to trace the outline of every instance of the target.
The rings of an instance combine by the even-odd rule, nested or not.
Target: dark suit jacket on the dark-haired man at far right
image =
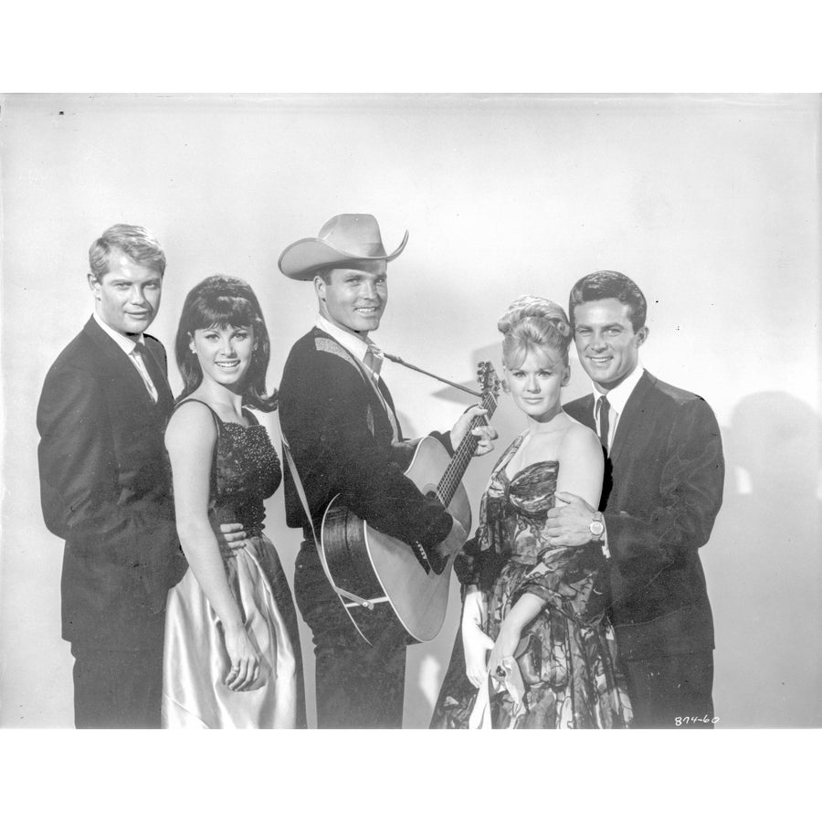
[[[593,395],[565,411],[595,429]],[[643,374],[617,424],[601,506],[611,616],[625,659],[713,648],[699,549],[722,505],[723,479],[711,407]]]

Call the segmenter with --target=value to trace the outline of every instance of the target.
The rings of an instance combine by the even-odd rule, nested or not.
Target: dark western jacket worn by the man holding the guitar
[[[429,548],[448,536],[451,516],[407,479],[413,446],[392,446],[385,408],[348,353],[314,328],[291,348],[279,385],[279,419],[300,473],[311,515],[321,517],[337,494],[380,531]],[[380,381],[389,405],[393,401]],[[446,448],[447,437],[437,436]],[[291,528],[308,524],[286,469]]]

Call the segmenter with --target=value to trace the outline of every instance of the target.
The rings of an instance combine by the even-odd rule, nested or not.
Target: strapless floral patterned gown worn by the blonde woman
[[[490,638],[497,638],[502,619],[523,593],[545,604],[523,631],[538,639],[541,681],[526,687],[524,711],[517,710],[508,690],[493,693],[492,727],[627,727],[630,703],[615,664],[617,649],[600,585],[606,575],[602,551],[598,544],[549,545],[543,528],[553,508],[559,463],[536,462],[509,479],[506,467],[524,437],[511,443],[491,473],[478,531],[465,547],[464,565],[482,591],[483,630]],[[458,631],[431,727],[467,728],[477,693],[465,674]]]

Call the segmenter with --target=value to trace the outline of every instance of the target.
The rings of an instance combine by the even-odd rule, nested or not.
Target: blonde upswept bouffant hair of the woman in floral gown
[[[568,347],[573,336],[562,306],[544,297],[522,296],[514,300],[497,322],[503,335],[502,358],[507,367],[522,364],[529,351],[556,352],[568,366]]]

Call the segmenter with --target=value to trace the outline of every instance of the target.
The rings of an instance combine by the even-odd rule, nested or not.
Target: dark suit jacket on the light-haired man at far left
[[[66,540],[63,638],[84,648],[162,643],[166,595],[184,572],[163,445],[174,398],[162,344],[145,344],[156,404],[91,318],[49,369],[37,406],[43,516]]]

